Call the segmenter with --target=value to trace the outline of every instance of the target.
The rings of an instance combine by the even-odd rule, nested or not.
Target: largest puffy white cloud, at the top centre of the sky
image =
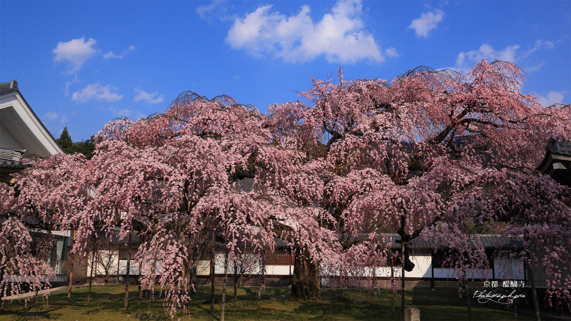
[[[373,36],[364,29],[359,1],[339,1],[331,13],[313,22],[309,6],[291,17],[262,6],[236,18],[226,42],[234,49],[262,57],[272,54],[286,62],[305,62],[325,55],[328,62],[384,61]]]

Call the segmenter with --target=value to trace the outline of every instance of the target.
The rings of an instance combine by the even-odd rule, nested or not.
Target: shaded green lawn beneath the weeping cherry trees
[[[127,315],[147,313],[156,315],[154,320],[170,320],[163,310],[163,301],[142,299],[138,304],[136,286],[130,287],[129,309],[123,310],[124,286],[92,287],[91,302],[87,303],[87,288],[71,293],[67,304],[67,292],[51,295],[49,304],[25,304],[3,302],[0,319],[4,320],[138,320]],[[186,313],[178,308],[176,319],[219,320],[220,304],[215,305],[210,315],[208,299],[210,287],[200,287],[193,296]],[[221,298],[222,287],[216,287],[216,297]],[[383,290],[377,296],[367,290],[345,290],[347,302],[331,298],[339,297],[340,290],[323,289],[324,300],[298,302],[289,300],[289,288],[266,288],[258,299],[258,288],[239,288],[238,302],[234,302],[234,288],[228,289],[226,303],[227,320],[400,320],[400,303],[391,312],[391,293]],[[465,296],[463,296],[464,298]],[[458,298],[456,291],[407,291],[407,307],[420,309],[421,320],[468,320],[465,299]],[[513,313],[493,310],[473,304],[474,320],[515,320]],[[175,319],[175,320],[176,320]],[[518,320],[532,320],[518,315]],[[150,319],[153,320],[153,319]]]

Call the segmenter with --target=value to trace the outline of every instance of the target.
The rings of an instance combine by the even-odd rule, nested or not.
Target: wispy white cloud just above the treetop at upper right
[[[478,48],[478,50],[468,51],[467,53],[461,52],[456,57],[456,63],[453,67],[446,67],[443,69],[452,69],[460,71],[462,74],[468,73],[468,71],[476,66],[478,61],[482,59],[489,59],[490,61],[501,60],[509,61],[513,63],[525,63],[528,61],[529,55],[540,50],[542,48],[553,49],[553,42],[537,40],[533,47],[528,50],[522,51],[520,45],[513,45],[505,47],[504,49],[496,50],[488,43],[484,43]],[[540,69],[543,63],[536,64],[528,68],[529,71],[536,71]]]

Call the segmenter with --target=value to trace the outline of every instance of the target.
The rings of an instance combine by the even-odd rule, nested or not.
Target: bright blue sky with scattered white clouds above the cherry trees
[[[182,91],[262,113],[310,77],[391,80],[513,61],[525,93],[571,102],[569,1],[1,1],[0,77],[59,137],[162,112]]]

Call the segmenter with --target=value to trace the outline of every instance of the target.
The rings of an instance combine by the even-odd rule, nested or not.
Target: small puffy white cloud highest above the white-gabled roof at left
[[[89,38],[89,40],[85,41],[85,37],[72,39],[68,42],[60,41],[52,50],[55,54],[54,61],[67,61],[70,68],[67,70],[67,73],[73,74],[81,69],[83,64],[96,53],[96,50],[93,48],[95,43],[97,43],[95,39]]]

